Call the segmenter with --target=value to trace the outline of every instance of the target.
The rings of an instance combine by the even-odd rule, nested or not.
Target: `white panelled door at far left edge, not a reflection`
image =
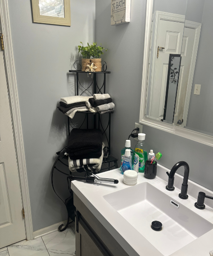
[[[0,248],[26,239],[12,119],[0,48]]]

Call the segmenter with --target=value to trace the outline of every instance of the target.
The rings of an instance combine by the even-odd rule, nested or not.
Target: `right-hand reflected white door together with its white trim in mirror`
[[[187,123],[190,93],[194,76],[196,55],[198,51],[201,23],[185,21],[184,36],[181,49],[181,70],[176,98],[174,124],[183,119],[184,127]]]

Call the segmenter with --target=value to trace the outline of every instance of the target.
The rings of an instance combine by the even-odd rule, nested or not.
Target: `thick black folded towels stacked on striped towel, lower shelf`
[[[70,159],[98,158],[102,154],[100,129],[72,129],[66,148]]]

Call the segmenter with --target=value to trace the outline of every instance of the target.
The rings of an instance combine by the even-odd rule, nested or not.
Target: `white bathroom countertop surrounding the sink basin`
[[[174,182],[176,189],[172,192],[167,191],[165,189],[168,180],[168,176],[166,175],[167,171],[170,172],[169,169],[158,164],[158,176],[153,180],[149,180],[144,178],[143,173],[139,173],[138,184],[143,182],[150,183],[165,194],[171,196],[173,199],[175,199],[176,202],[183,204],[185,207],[189,208],[213,224],[212,200],[205,201],[205,210],[200,210],[194,207],[194,203],[196,202],[199,191],[203,191],[210,196],[213,196],[213,192],[189,180],[189,198],[187,200],[182,200],[178,197],[178,194],[180,193],[183,177],[176,174]],[[120,169],[104,172],[98,176],[117,179],[119,183],[101,183],[100,186],[97,186],[95,183],[86,183],[75,180],[71,183],[73,192],[78,196],[78,198],[81,199],[81,201],[92,212],[92,214],[95,215],[98,221],[101,222],[101,224],[109,231],[114,239],[118,241],[118,243],[130,256],[163,256],[163,254],[159,252],[153,246],[153,244],[151,244],[144,236],[142,236],[141,233],[139,233],[104,199],[105,195],[130,187],[123,183],[123,175],[121,174]],[[213,250],[212,241],[213,230],[210,230],[203,236],[200,236],[186,246],[170,254],[170,256],[209,256],[210,250]]]

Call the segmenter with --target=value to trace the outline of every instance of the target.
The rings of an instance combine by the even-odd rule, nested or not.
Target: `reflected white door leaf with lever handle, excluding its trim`
[[[170,17],[173,14],[169,14]],[[182,15],[181,15],[182,16]],[[184,18],[182,22],[172,20],[158,21],[158,36],[155,45],[156,49],[153,51],[153,70],[151,79],[152,93],[150,99],[150,117],[155,119],[162,119],[164,114],[164,104],[167,86],[168,64],[169,56],[171,54],[181,54],[182,39],[184,33]],[[160,49],[157,58],[157,47],[164,47]],[[155,54],[156,53],[156,54]]]

